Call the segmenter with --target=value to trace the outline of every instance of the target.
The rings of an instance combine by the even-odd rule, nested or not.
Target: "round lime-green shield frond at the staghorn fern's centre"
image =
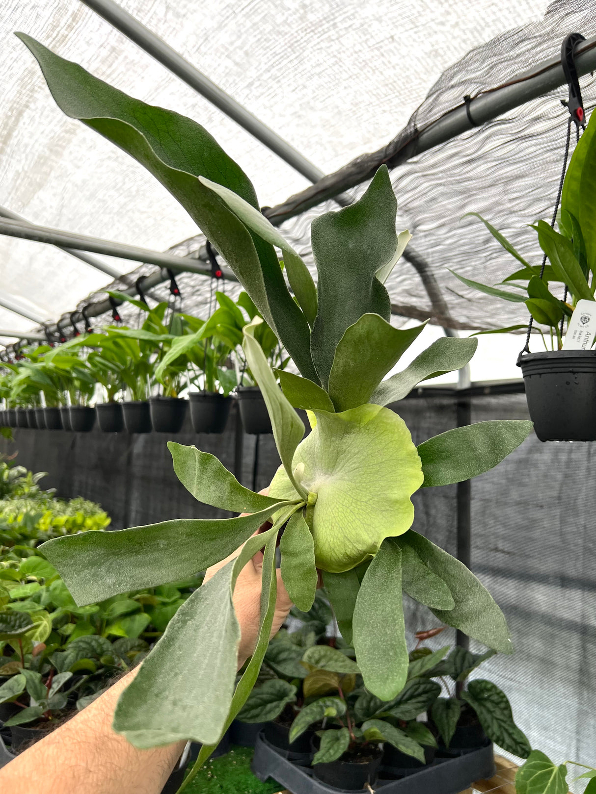
[[[384,538],[408,530],[410,497],[423,476],[410,431],[393,411],[368,404],[315,415],[316,426],[292,465],[304,489],[316,495],[311,526],[317,568],[341,573],[377,553]],[[295,498],[283,468],[269,495]]]

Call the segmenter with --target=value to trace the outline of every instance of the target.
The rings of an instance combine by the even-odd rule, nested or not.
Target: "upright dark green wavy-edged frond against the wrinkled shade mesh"
[[[312,222],[319,313],[312,329],[311,350],[323,387],[327,386],[335,348],[346,328],[367,313],[389,321],[391,301],[377,272],[393,262],[400,246],[395,231],[396,210],[389,171],[382,165],[362,198]]]

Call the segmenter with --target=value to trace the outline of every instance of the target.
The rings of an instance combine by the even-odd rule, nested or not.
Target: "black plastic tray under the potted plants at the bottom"
[[[254,746],[252,769],[260,781],[273,777],[295,794],[338,794],[345,791],[317,780],[312,776],[311,767],[288,761],[283,752],[266,741],[262,733],[258,735]],[[383,769],[381,767],[381,776]],[[373,789],[383,794],[458,794],[474,781],[493,777],[495,771],[491,742],[479,750],[454,758],[437,758],[424,769],[408,769],[407,777],[399,780],[379,777]]]

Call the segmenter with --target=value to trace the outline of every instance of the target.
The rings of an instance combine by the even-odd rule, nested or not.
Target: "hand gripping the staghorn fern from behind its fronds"
[[[267,495],[269,488],[264,488],[260,491],[261,494]],[[243,513],[242,515],[248,515]],[[262,527],[261,527],[262,529]],[[260,531],[260,530],[257,530]],[[255,533],[257,534],[257,533]],[[208,581],[212,576],[227,565],[230,560],[234,560],[241,552],[240,546],[230,557],[218,562],[216,565],[211,565],[205,572],[204,581]],[[263,553],[257,552],[254,557],[246,563],[236,580],[236,587],[234,588],[234,611],[240,626],[241,638],[240,646],[238,647],[238,669],[242,667],[246,659],[253,653],[254,647],[257,645],[259,623],[261,619],[261,572],[263,569]],[[275,603],[275,612],[273,614],[273,626],[271,627],[271,637],[281,629],[284,625],[285,619],[288,617],[288,612],[292,607],[292,601],[285,589],[284,583],[281,580],[281,572],[279,569],[277,573],[277,599]]]

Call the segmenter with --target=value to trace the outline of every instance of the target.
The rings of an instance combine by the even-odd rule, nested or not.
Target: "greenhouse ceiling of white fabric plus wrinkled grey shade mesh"
[[[596,33],[591,2],[122,0],[120,5],[323,173],[385,145],[408,120],[412,123],[419,106],[422,121],[435,118],[459,104],[463,94],[474,95],[555,56],[571,29],[586,37]],[[123,91],[199,121],[253,179],[262,205],[273,206],[308,187],[303,175],[83,2],[8,0],[0,9],[0,206],[40,225],[156,251],[198,233],[141,166],[61,114],[37,64],[14,37],[17,30]],[[474,60],[478,47],[482,70]],[[586,109],[593,104],[591,82],[590,87]],[[559,94],[564,97],[564,90]],[[445,280],[446,266],[466,272],[474,268],[470,253],[482,251],[497,273],[502,256],[492,247],[485,256],[486,230],[476,226],[470,232],[459,218],[470,210],[492,211],[493,222],[505,223],[524,250],[532,241],[521,227],[554,202],[564,117],[558,98],[544,102],[532,102],[527,114],[509,114],[485,125],[490,129],[474,130],[393,172],[402,227],[415,234],[412,245],[429,262],[464,326],[482,326],[484,304],[467,306],[461,284]],[[528,162],[528,145],[534,160],[547,158],[541,172]],[[500,168],[504,158],[505,169]],[[315,207],[282,231],[308,252],[310,218],[332,206]],[[0,300],[29,316],[0,308],[0,328],[25,331],[32,318],[56,320],[88,293],[100,292],[109,278],[38,242],[0,237],[0,254]],[[122,274],[132,269],[128,260],[102,261]],[[428,304],[409,266],[389,287],[397,303]]]

